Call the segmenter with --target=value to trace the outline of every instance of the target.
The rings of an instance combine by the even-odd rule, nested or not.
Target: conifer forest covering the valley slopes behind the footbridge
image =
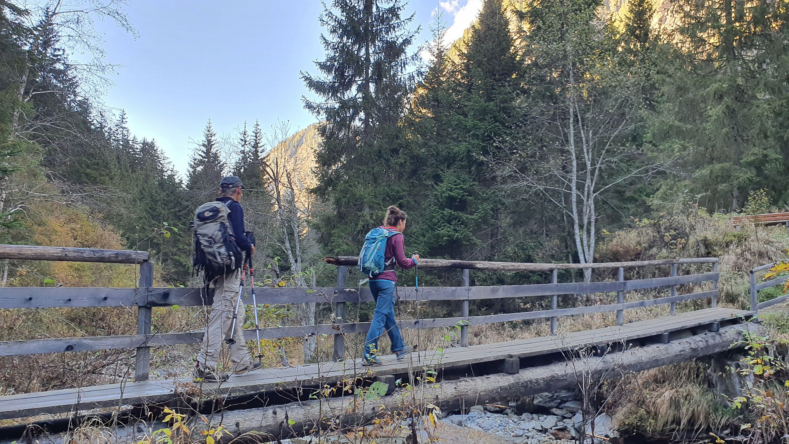
[[[91,14],[136,32],[116,3]],[[185,174],[92,98],[109,67],[68,53],[100,50],[88,13],[0,13],[2,241],[144,248],[171,284],[190,278],[193,207],[230,173],[261,190],[267,260],[296,274],[357,254],[389,204],[425,257],[585,263],[677,203],[789,202],[782,1],[488,0],[456,42],[440,17],[416,41],[406,2],[330,2],[326,57],[301,73],[316,124],[220,140],[208,121]],[[3,284],[44,278],[18,271]]]

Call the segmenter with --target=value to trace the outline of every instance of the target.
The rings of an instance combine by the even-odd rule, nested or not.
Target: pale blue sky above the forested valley
[[[433,11],[444,11],[457,38],[481,3],[411,0],[406,9],[423,42]],[[122,65],[103,102],[125,110],[131,132],[155,139],[181,173],[209,118],[222,135],[256,119],[264,130],[277,119],[304,128],[316,119],[302,107],[309,91],[299,71],[314,72],[323,58],[321,10],[318,0],[133,0],[126,11],[139,38],[97,24],[106,62]]]

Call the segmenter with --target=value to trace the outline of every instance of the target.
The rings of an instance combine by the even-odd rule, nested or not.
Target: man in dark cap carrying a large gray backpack
[[[200,345],[194,371],[195,379],[206,382],[221,382],[230,377],[219,365],[222,341],[228,342],[229,371],[240,375],[260,368],[260,362],[252,361],[246,347],[243,332],[245,309],[238,300],[241,297],[244,263],[241,254],[255,253],[255,245],[245,236],[244,230],[244,210],[240,202],[245,188],[235,176],[223,178],[219,188],[221,197],[215,202],[201,205],[194,221],[196,263],[202,262],[200,266],[206,273],[206,282],[214,287],[208,331]],[[204,255],[202,260],[201,255]],[[237,306],[239,308],[236,310]],[[237,316],[235,329],[230,331],[234,325],[234,315]]]

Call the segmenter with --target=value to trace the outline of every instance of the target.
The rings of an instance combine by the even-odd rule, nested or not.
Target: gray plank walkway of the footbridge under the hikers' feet
[[[609,326],[596,330],[586,330],[552,337],[529,338],[496,344],[473,345],[445,349],[443,356],[432,353],[413,353],[414,368],[436,364],[436,368],[462,367],[469,364],[503,360],[510,356],[526,358],[562,350],[574,349],[582,345],[604,345],[619,341],[633,341],[657,334],[684,330],[713,322],[725,321],[738,316],[748,316],[752,312],[729,308],[706,308],[695,312],[649,319],[624,326]],[[406,373],[407,360],[394,360],[385,356],[387,362],[375,368],[364,368],[358,360],[342,363],[329,362],[308,364],[292,368],[266,368],[246,375],[237,375],[222,384],[203,383],[200,390],[205,394],[241,394],[262,390],[276,390],[286,386],[309,386],[320,383],[334,383],[342,379],[372,371],[378,375]],[[440,362],[439,362],[440,361]],[[52,390],[32,394],[17,394],[0,397],[0,419],[33,416],[41,413],[72,412],[97,408],[111,408],[118,405],[139,404],[143,401],[166,401],[177,397],[176,391],[195,388],[191,379],[151,379],[144,382],[125,382],[105,386],[91,386],[80,389]]]

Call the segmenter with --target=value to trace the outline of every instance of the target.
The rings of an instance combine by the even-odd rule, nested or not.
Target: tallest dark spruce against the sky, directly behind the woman
[[[333,252],[355,252],[387,205],[407,193],[398,123],[417,30],[409,30],[413,15],[403,16],[404,8],[402,0],[334,0],[320,17],[326,58],[316,62],[318,73],[301,74],[320,97],[305,106],[321,122],[315,192],[334,207],[320,224]]]

